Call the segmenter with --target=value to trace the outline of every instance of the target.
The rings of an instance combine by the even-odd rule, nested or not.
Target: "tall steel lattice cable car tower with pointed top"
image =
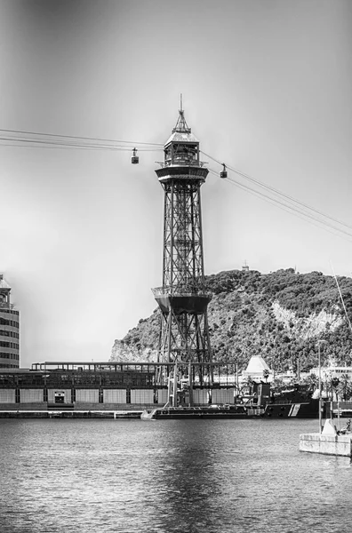
[[[204,288],[204,253],[200,187],[208,170],[199,161],[199,142],[179,118],[164,145],[164,162],[156,175],[164,188],[163,286],[154,289],[161,310],[160,362],[212,362]],[[203,364],[202,364],[203,363]],[[185,365],[183,365],[185,366]],[[190,367],[189,367],[190,369]],[[190,370],[186,375],[190,378]]]

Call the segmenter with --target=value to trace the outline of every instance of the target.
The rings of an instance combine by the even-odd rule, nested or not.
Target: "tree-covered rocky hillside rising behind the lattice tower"
[[[348,317],[352,317],[352,279],[339,277]],[[208,318],[214,361],[237,362],[244,369],[260,354],[276,370],[317,366],[333,358],[351,363],[352,332],[332,276],[296,274],[292,268],[270,274],[231,270],[206,277],[212,291]],[[112,361],[156,361],[160,314],[156,309],[116,340]]]

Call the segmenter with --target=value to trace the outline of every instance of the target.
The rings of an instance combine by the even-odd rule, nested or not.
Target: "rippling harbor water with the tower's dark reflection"
[[[0,419],[2,533],[348,532],[347,457],[316,420]]]

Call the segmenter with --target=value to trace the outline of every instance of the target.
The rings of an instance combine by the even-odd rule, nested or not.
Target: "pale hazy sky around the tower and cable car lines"
[[[182,92],[205,153],[352,226],[351,25],[348,0],[0,0],[0,129],[164,143]],[[21,366],[107,361],[156,307],[163,154],[9,144],[0,273]],[[212,174],[202,195],[206,274],[352,274],[351,239]]]

